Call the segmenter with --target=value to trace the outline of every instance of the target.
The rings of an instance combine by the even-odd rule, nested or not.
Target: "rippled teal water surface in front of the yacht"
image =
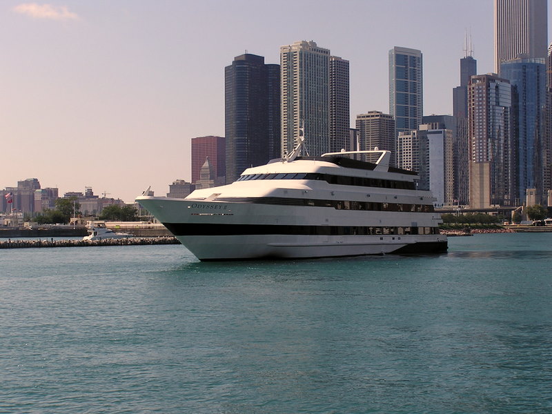
[[[552,233],[449,246],[0,250],[0,413],[551,413]]]

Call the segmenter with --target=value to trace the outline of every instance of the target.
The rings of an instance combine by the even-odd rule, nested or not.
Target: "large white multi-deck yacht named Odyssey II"
[[[200,260],[446,252],[433,196],[388,165],[391,152],[299,157],[301,147],[226,186],[136,201]],[[363,153],[380,158],[348,157]]]

